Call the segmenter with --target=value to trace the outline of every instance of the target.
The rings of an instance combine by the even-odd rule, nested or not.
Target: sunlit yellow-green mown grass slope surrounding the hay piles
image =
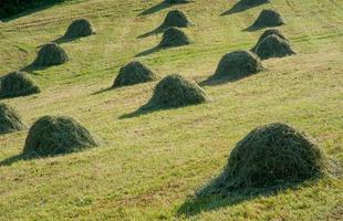
[[[284,122],[315,137],[343,161],[343,2],[274,0],[220,17],[224,0],[177,6],[195,25],[195,44],[139,57],[160,76],[180,72],[195,81],[211,75],[222,54],[249,49],[260,32],[242,32],[262,8],[287,19],[282,31],[297,56],[264,62],[267,71],[205,90],[212,102],[118,119],[144,104],[156,83],[100,92],[119,66],[157,44],[136,39],[155,29],[168,9],[138,17],[159,0],[84,0],[55,6],[0,24],[0,73],[34,59],[37,46],[59,38],[75,18],[92,19],[97,34],[63,44],[72,61],[37,71],[43,93],[4,101],[30,125],[46,114],[70,115],[104,139],[101,148],[0,167],[0,220],[186,219],[177,211],[194,190],[218,175],[235,146],[258,125]],[[230,1],[232,2],[232,1]],[[94,94],[95,93],[95,94]],[[0,160],[21,152],[27,131],[0,137]],[[235,203],[189,202],[190,219],[318,220],[343,215],[343,181]]]

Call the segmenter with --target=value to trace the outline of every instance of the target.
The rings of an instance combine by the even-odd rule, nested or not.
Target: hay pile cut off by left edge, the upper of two
[[[39,86],[23,72],[11,72],[0,82],[0,97],[17,97],[37,93],[40,93]]]

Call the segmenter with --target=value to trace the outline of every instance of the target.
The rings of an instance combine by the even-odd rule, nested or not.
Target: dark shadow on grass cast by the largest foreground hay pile
[[[211,190],[220,188],[218,186],[219,179],[219,177],[215,178],[205,188],[196,192],[193,198],[187,199],[177,210],[177,214],[179,217],[184,215],[189,218],[202,211],[219,210],[220,208],[232,207],[256,198],[277,196],[285,189],[297,190],[300,186],[310,186],[315,180],[315,178],[309,180],[306,185],[304,185],[303,181],[298,181],[270,188],[239,189],[225,193],[211,193]]]

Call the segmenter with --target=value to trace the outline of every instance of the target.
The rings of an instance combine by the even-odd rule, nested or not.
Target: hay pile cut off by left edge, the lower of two
[[[20,115],[12,107],[0,103],[0,134],[22,130],[25,125],[22,123]]]

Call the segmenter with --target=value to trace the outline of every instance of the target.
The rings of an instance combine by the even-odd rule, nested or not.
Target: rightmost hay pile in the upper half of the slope
[[[291,44],[281,39],[280,36],[272,34],[263,39],[256,49],[256,54],[261,60],[270,57],[283,57],[295,54]]]

